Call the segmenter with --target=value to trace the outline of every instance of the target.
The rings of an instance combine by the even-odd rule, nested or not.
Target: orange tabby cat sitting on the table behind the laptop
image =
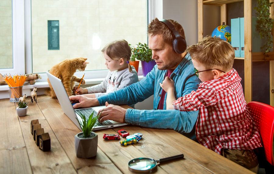
[[[73,59],[66,59],[56,65],[54,65],[49,73],[54,75],[55,77],[61,79],[64,84],[64,87],[68,93],[68,96],[72,96],[72,89],[74,87],[75,82],[80,83],[81,78],[73,75],[76,70],[84,71],[86,68],[86,58],[78,57]],[[51,98],[56,98],[55,92],[51,86],[51,82],[47,79],[50,89],[47,90],[47,94],[51,96]],[[86,84],[86,81],[83,79],[81,82],[82,85]]]

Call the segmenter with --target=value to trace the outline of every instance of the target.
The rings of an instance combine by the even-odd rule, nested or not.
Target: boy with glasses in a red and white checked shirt
[[[195,131],[198,142],[257,173],[253,149],[262,143],[244,100],[241,77],[232,68],[233,47],[218,37],[205,37],[186,51],[202,83],[197,91],[176,100],[174,82],[165,78],[160,86],[167,92],[167,109],[200,109]]]

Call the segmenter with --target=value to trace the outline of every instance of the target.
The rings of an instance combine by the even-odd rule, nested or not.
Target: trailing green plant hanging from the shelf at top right
[[[269,0],[258,0],[257,6],[254,8],[258,15],[258,24],[256,26],[256,30],[259,32],[261,38],[266,38],[265,45],[262,49],[265,50],[264,55],[266,57],[266,53],[269,52],[269,49],[272,48],[271,44],[273,43],[271,38],[271,31],[273,29],[273,21],[269,15],[269,7],[273,4],[273,2],[269,2]]]

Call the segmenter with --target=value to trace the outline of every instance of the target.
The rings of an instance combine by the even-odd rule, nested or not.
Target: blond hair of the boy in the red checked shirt
[[[226,72],[232,69],[235,58],[230,43],[218,37],[206,36],[197,44],[189,46],[186,51],[193,60],[202,63],[206,68],[218,68]]]

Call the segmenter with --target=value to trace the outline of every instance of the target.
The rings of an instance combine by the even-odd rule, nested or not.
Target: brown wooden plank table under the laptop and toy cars
[[[16,103],[0,100],[0,173],[132,173],[127,166],[131,159],[160,159],[177,154],[184,154],[184,159],[162,163],[155,173],[251,173],[174,130],[134,125],[95,131],[97,156],[77,158],[74,136],[81,131],[63,113],[58,101],[42,95],[37,97],[37,103],[31,103],[29,98],[26,102],[27,115],[18,117]],[[34,119],[49,133],[51,151],[43,152],[36,146],[30,133],[30,121]],[[103,140],[104,133],[116,134],[119,129],[131,134],[140,132],[143,138],[128,146]]]

